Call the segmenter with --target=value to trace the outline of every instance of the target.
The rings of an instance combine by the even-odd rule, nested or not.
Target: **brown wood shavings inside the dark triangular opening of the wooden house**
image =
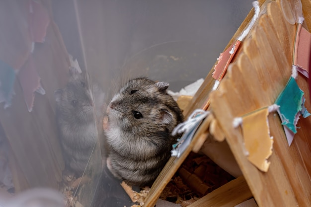
[[[187,206],[186,201],[196,201],[233,179],[206,155],[191,152],[162,191],[160,199]]]

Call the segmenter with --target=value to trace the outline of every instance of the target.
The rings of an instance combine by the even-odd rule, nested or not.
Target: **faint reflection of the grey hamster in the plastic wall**
[[[103,93],[97,86],[94,89],[94,96],[97,97],[95,104],[100,108]],[[66,167],[80,176],[98,140],[94,98],[88,74],[71,67],[66,87],[56,90],[55,98],[56,121]]]

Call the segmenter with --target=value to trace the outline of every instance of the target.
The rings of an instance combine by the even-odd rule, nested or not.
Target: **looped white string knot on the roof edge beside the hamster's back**
[[[200,114],[200,116],[196,116]],[[209,111],[205,111],[202,109],[196,109],[192,112],[192,114],[189,116],[189,118],[183,122],[177,125],[172,135],[175,136],[176,134],[181,134],[183,132],[188,132],[191,130],[198,122],[202,121],[205,117],[207,117],[210,114]]]

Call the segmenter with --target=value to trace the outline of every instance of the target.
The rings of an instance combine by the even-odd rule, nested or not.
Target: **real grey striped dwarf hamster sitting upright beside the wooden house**
[[[129,185],[151,185],[170,157],[183,122],[169,84],[148,78],[129,80],[111,100],[107,112],[107,167]]]

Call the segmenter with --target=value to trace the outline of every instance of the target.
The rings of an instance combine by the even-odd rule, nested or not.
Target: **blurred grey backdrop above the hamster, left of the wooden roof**
[[[208,74],[251,2],[53,0],[53,13],[69,53],[107,94],[136,76],[177,91]]]

